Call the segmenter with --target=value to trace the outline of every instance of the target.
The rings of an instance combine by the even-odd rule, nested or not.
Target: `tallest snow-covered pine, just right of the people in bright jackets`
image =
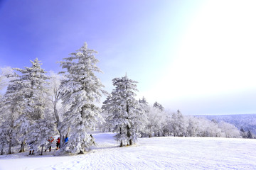
[[[95,76],[95,72],[101,72],[96,66],[99,61],[95,59],[95,53],[85,42],[78,52],[60,62],[60,66],[66,69],[60,72],[65,77],[60,85],[63,105],[70,105],[64,113],[62,125],[63,132],[69,132],[68,143],[63,149],[73,154],[84,153],[90,147],[91,137],[87,131],[93,130],[96,123],[103,120],[101,109],[95,102],[100,102],[102,94],[107,92]]]

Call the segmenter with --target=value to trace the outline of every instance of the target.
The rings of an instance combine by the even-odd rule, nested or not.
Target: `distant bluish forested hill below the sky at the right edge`
[[[220,122],[223,120],[226,123],[235,125],[239,130],[242,128],[245,131],[250,130],[256,135],[256,114],[245,115],[203,115],[203,117],[209,120],[216,120]]]

